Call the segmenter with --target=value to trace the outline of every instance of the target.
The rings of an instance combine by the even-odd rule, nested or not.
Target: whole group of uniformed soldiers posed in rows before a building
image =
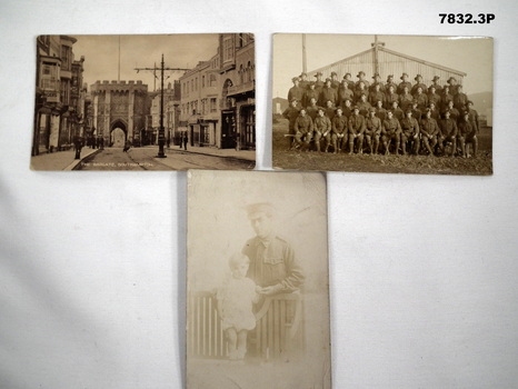
[[[479,116],[455,77],[435,76],[430,84],[407,72],[355,77],[292,78],[282,112],[289,150],[477,158]]]

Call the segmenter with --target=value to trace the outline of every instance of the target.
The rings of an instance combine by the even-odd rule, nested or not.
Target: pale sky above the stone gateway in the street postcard
[[[218,34],[162,34],[162,36],[73,36],[73,56],[79,60],[84,56],[83,82],[90,86],[97,80],[117,80],[120,37],[120,80],[141,80],[153,90],[153,74],[150,71],[137,73],[135,68],[160,67],[161,54],[166,67],[196,67],[199,61],[212,58],[218,50]],[[168,82],[178,80],[183,71],[166,72]],[[157,79],[157,89],[160,80]]]

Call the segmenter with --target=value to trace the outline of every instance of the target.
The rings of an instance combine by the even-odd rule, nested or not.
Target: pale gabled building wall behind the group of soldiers
[[[385,82],[387,76],[394,74],[394,82],[399,83],[400,77],[404,72],[408,73],[409,81],[414,83],[414,78],[417,74],[422,76],[422,82],[427,86],[431,84],[434,76],[439,76],[439,84],[446,84],[446,81],[450,77],[455,77],[459,84],[462,83],[464,77],[467,73],[447,68],[442,64],[432,63],[416,57],[407,56],[390,49],[387,49],[383,43],[375,40],[372,48],[362,51],[358,54],[345,58],[335,63],[326,67],[315,69],[309,74],[315,74],[317,71],[321,71],[323,79],[331,77],[331,72],[336,71],[338,77],[341,79],[343,74],[351,73],[352,80],[356,80],[358,72],[362,70],[367,74],[367,79],[370,81],[371,77],[378,72],[381,76],[381,80]]]

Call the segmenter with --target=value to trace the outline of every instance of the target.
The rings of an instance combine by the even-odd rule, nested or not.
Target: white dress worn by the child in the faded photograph
[[[256,328],[252,306],[256,298],[256,283],[249,278],[230,277],[219,289],[217,299],[221,301],[222,328],[235,328],[236,331]]]

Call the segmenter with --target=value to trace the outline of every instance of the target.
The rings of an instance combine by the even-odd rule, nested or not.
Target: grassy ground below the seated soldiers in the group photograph
[[[278,119],[273,123],[272,153],[275,169],[358,171],[412,174],[492,174],[492,129],[482,128],[477,158],[448,158],[428,156],[381,156],[318,153],[315,151],[288,151],[290,138],[288,120]],[[381,150],[381,147],[380,147]]]

